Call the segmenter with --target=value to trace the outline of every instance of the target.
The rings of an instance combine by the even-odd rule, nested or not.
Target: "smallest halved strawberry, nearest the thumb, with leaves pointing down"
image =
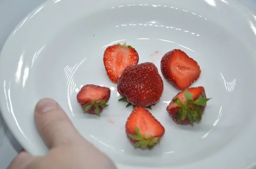
[[[104,107],[110,98],[111,90],[108,87],[97,85],[85,85],[77,94],[76,99],[81,104],[84,112],[100,116]]]

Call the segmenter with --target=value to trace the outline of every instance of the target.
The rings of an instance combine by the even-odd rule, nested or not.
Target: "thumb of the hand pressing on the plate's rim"
[[[49,148],[84,141],[66,113],[52,99],[42,99],[35,106],[35,125]]]

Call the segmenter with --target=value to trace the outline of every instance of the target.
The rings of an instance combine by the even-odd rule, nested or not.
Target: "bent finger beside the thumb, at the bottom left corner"
[[[25,169],[26,165],[32,160],[33,157],[27,152],[20,152],[20,154],[13,159],[7,169]]]

